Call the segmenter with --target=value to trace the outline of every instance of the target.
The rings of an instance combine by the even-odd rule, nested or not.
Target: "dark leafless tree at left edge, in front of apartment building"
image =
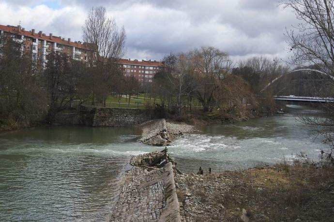
[[[0,34],[0,130],[29,126],[32,117],[46,111],[42,67],[24,45]]]

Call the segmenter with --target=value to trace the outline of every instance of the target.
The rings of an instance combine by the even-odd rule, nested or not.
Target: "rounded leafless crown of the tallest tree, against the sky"
[[[105,7],[92,7],[85,25],[82,27],[82,38],[96,51],[94,61],[117,59],[124,55],[126,33],[124,27],[119,30],[114,18],[106,15]]]

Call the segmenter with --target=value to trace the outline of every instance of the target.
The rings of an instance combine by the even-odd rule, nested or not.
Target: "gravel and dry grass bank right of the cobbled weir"
[[[187,221],[329,222],[334,217],[333,165],[278,163],[219,174],[176,175],[175,181]]]

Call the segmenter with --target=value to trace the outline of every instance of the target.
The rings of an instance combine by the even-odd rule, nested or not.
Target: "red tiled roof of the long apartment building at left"
[[[62,38],[60,38],[58,36],[52,36],[52,39],[50,39],[50,37],[47,36],[44,33],[42,34],[42,36],[40,36],[38,32],[37,33],[35,32],[34,34],[32,34],[31,31],[27,31],[27,30],[22,30],[21,29],[20,31],[18,31],[17,27],[15,27],[15,26],[0,25],[0,30],[15,33],[15,34],[19,34],[19,35],[29,36],[29,37],[32,37],[32,38],[44,39],[46,41],[53,42],[53,43],[59,43],[59,44],[63,44],[63,45],[70,45],[70,46],[74,46],[76,48],[89,49],[88,46],[85,45],[85,44],[68,42],[67,40],[62,40]]]

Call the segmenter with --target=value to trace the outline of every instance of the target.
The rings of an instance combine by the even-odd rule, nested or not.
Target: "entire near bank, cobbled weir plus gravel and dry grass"
[[[182,222],[326,222],[333,219],[331,164],[282,162],[220,173],[203,169],[201,175],[184,174],[170,161],[165,150],[131,159],[134,167],[126,173],[111,221],[138,218],[138,221]]]

